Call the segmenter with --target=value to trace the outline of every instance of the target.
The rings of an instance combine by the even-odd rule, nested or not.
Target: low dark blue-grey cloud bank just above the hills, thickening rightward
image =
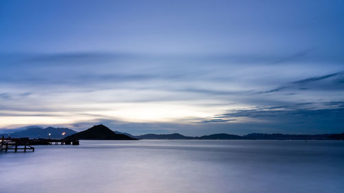
[[[333,104],[343,102],[333,102]],[[311,104],[308,104],[312,106]],[[237,122],[243,118],[248,122]],[[344,108],[309,109],[306,104],[270,106],[250,110],[228,111],[213,119],[197,119],[193,124],[178,122],[123,122],[118,120],[89,120],[71,125],[84,130],[94,124],[105,124],[111,129],[132,135],[147,133],[181,133],[197,136],[213,133],[246,135],[248,133],[343,133]]]

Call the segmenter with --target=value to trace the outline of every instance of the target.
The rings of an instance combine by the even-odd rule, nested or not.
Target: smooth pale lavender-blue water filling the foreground
[[[0,192],[343,192],[344,141],[80,141],[0,152]]]

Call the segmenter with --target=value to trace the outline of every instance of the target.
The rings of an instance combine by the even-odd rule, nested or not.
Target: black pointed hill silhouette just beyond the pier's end
[[[87,140],[138,140],[124,134],[116,134],[103,124],[92,126],[87,130],[65,137],[65,139],[87,139]]]

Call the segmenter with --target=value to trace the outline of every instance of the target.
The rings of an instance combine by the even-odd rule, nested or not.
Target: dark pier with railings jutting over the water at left
[[[25,138],[1,138],[0,151],[4,152],[34,152],[36,145],[78,145],[77,139],[29,139]]]

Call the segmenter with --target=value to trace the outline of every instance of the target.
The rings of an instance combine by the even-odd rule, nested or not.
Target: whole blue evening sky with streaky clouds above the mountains
[[[0,128],[343,133],[344,1],[0,1]]]

